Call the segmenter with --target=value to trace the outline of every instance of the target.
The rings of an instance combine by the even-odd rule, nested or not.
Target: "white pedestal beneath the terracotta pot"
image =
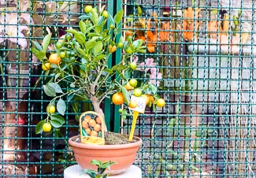
[[[82,168],[79,165],[69,166],[64,170],[64,178],[90,178],[87,174],[81,174]],[[141,169],[139,167],[132,165],[126,172],[108,176],[109,178],[142,178]]]

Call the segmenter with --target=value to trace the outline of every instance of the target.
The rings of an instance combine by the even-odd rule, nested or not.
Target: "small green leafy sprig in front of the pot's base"
[[[113,161],[102,162],[102,161],[92,160],[91,165],[96,165],[98,167],[97,171],[86,169],[86,170],[83,170],[82,174],[88,174],[91,178],[106,178],[107,176],[109,176],[109,174],[108,173],[105,174],[104,172],[106,171],[106,169],[110,170],[110,166],[116,163],[117,162],[113,162]]]

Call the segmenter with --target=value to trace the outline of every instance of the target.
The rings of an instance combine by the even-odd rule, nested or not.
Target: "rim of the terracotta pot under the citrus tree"
[[[72,136],[69,139],[69,145],[75,146],[75,147],[80,147],[80,148],[87,148],[87,149],[97,149],[97,150],[105,149],[105,150],[110,150],[110,149],[120,149],[120,148],[136,147],[136,146],[140,146],[143,143],[142,139],[140,139],[137,136],[134,136],[134,138],[136,140],[138,140],[135,143],[118,144],[118,145],[93,145],[93,144],[84,144],[84,143],[76,143],[76,142],[74,142],[72,139],[74,139],[74,138],[76,138],[78,136],[80,136],[80,135]]]

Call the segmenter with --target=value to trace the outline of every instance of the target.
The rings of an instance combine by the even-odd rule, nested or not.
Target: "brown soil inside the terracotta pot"
[[[129,135],[124,135],[121,133],[114,133],[114,132],[105,132],[105,145],[120,145],[120,144],[127,144],[127,143],[135,143],[138,140],[132,139],[132,141],[129,141]],[[75,140],[76,143],[81,143],[80,137],[76,137]]]

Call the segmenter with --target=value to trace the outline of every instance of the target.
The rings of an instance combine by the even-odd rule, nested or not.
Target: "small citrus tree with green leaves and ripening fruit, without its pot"
[[[143,95],[150,105],[159,102],[156,99],[157,87],[153,83],[138,85],[137,80],[131,79],[136,69],[132,56],[145,53],[146,46],[141,39],[122,36],[122,18],[123,10],[112,17],[104,7],[98,10],[86,6],[85,14],[80,16],[79,27],[66,30],[65,36],[54,45],[56,52],[49,57],[46,57],[46,50],[51,34],[45,36],[42,45],[34,42],[32,52],[42,61],[44,75],[51,76],[47,77],[43,91],[53,97],[46,109],[48,116],[36,126],[37,133],[49,132],[49,125],[60,128],[65,123],[61,117],[67,108],[65,101],[74,98],[90,100],[95,112],[103,118],[101,103],[106,97],[111,96],[113,104],[125,104],[130,108],[136,107],[136,102],[131,101],[131,94]],[[123,52],[121,60],[117,65],[109,66],[111,55],[118,48]],[[121,113],[126,112],[122,110]]]

